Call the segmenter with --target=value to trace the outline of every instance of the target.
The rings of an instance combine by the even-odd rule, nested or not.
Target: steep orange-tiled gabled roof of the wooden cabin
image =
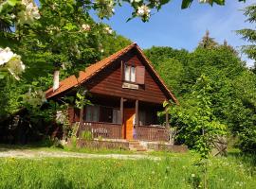
[[[145,60],[145,62],[149,65],[152,72],[155,74],[155,77],[158,79],[160,84],[163,86],[164,90],[167,92],[167,94],[170,95],[170,97],[174,100],[175,103],[178,103],[177,99],[175,98],[174,94],[168,89],[168,87],[165,85],[164,81],[158,76],[158,74],[155,72],[155,69],[153,68],[152,63],[150,60],[148,60],[145,55],[143,54],[142,50],[138,47],[137,43],[132,43],[125,48],[119,50],[117,53],[114,53],[113,55],[109,56],[108,58],[98,61],[89,67],[87,67],[84,71],[81,71],[79,73],[79,77],[70,76],[65,78],[60,82],[60,86],[57,90],[53,92],[52,88],[48,89],[46,91],[46,98],[53,97],[57,94],[61,94],[71,88],[77,87],[80,83],[86,81],[87,79],[97,75],[103,68],[114,62],[115,60],[119,59],[122,55],[130,51],[131,49],[136,48],[137,52],[141,55],[141,57]]]

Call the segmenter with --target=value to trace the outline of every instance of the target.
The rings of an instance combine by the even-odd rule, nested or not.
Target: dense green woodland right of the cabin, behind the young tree
[[[178,128],[176,142],[195,146],[194,135],[202,133],[193,132],[193,127],[188,126],[198,124],[192,119],[199,108],[195,94],[202,89],[198,88],[198,79],[205,76],[211,88],[204,94],[210,101],[210,119],[226,125],[231,135],[240,136],[240,148],[253,152],[255,143],[247,139],[254,139],[256,125],[255,74],[247,69],[227,42],[218,44],[210,35],[208,38],[214,45],[199,44],[192,53],[155,46],[145,50],[159,75],[179,99],[180,106],[171,114],[171,126]]]

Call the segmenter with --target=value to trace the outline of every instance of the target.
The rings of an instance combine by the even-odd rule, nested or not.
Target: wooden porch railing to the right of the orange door
[[[137,140],[169,141],[170,131],[165,127],[137,126]]]

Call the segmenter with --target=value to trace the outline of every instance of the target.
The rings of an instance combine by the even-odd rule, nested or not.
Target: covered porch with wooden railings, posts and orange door
[[[91,102],[93,105],[74,113],[81,124],[79,134],[87,130],[94,138],[170,140],[168,114],[163,120],[157,117],[157,112],[164,111],[161,104],[99,94],[94,94]]]

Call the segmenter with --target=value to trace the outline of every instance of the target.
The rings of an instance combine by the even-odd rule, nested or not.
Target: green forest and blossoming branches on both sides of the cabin
[[[89,14],[89,9],[95,9],[99,17],[111,17],[114,4],[109,2],[86,7],[83,1],[42,0],[39,8],[29,1],[6,2],[0,7],[0,54],[9,58],[0,57],[0,122],[26,109],[22,119],[40,132],[42,120],[51,122],[56,112],[44,92],[53,85],[57,70],[61,79],[77,75],[132,42]],[[139,5],[132,6],[137,9]],[[147,21],[147,10],[143,7],[136,16]],[[244,11],[245,20],[255,28],[256,5]],[[243,52],[255,60],[256,30],[237,29],[241,29],[238,35],[252,43]],[[200,151],[209,149],[214,136],[226,135],[235,147],[255,153],[256,70],[247,67],[229,42],[217,43],[206,31],[192,52],[153,46],[144,53],[180,103],[163,105],[170,113],[170,125],[177,130],[176,143]],[[42,106],[48,108],[41,111]],[[9,125],[1,124],[0,129],[4,127]]]

